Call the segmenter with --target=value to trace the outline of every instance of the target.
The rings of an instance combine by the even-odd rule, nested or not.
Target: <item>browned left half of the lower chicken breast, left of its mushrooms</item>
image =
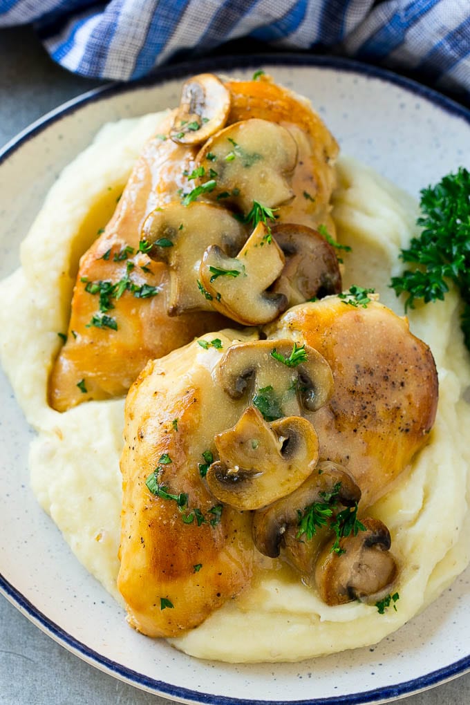
[[[230,341],[218,336],[225,348]],[[241,413],[240,405],[224,407],[218,397],[223,392],[211,372],[221,354],[192,343],[149,362],[126,400],[118,588],[132,627],[151,637],[197,626],[252,576],[249,513],[224,506],[218,522],[211,513],[217,500],[199,473],[214,434]],[[171,462],[159,464],[164,453]],[[185,508],[149,491],[146,479],[157,466],[168,493],[187,494]],[[187,523],[194,508],[206,521]],[[171,606],[162,608],[162,599]]]

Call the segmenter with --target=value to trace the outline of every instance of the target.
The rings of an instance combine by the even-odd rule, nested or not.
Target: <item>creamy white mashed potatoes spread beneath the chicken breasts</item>
[[[66,330],[78,257],[103,224],[100,219],[111,214],[106,195],[111,192],[116,201],[162,116],[120,121],[100,131],[49,192],[22,245],[22,267],[0,284],[2,364],[38,434],[30,449],[32,489],[78,560],[120,604],[123,400],[89,402],[61,414],[47,405],[47,378],[60,344],[57,333]],[[402,314],[388,283],[400,270],[400,248],[414,235],[416,202],[350,159],[340,159],[338,171],[333,216],[340,242],[352,247],[344,256],[345,288],[372,286]],[[265,572],[202,625],[171,639],[178,649],[223,661],[297,661],[373,644],[438,597],[468,565],[470,447],[462,429],[470,424],[464,398],[470,364],[459,329],[459,299],[450,293],[445,302],[417,307],[409,319],[412,332],[433,351],[440,398],[428,445],[370,511],[392,534],[400,565],[397,610],[380,615],[358,602],[330,607],[285,572]]]

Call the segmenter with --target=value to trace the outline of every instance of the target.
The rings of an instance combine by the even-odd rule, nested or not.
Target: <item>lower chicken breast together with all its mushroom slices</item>
[[[390,591],[390,533],[364,511],[426,443],[437,376],[405,319],[341,296],[291,309],[266,340],[208,334],[132,386],[118,587],[138,630],[201,623],[261,554],[329,604]],[[312,532],[318,506],[330,520]]]

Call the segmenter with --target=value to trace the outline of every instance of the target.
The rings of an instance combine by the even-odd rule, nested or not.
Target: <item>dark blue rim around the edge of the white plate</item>
[[[419,96],[443,109],[446,113],[462,118],[470,128],[470,109],[433,90],[421,85],[411,78],[398,75],[388,69],[370,64],[355,61],[354,59],[344,59],[336,56],[316,56],[305,54],[256,54],[253,56],[220,56],[209,59],[199,59],[197,61],[187,61],[172,66],[165,66],[156,69],[154,73],[132,83],[110,82],[103,86],[94,88],[88,92],[78,95],[57,106],[54,110],[39,118],[37,121],[22,130],[16,137],[6,143],[0,149],[0,166],[6,159],[22,147],[25,142],[41,133],[52,123],[60,120],[63,116],[73,114],[89,103],[108,99],[123,92],[140,90],[143,87],[153,87],[168,80],[185,78],[187,75],[202,73],[204,71],[223,71],[236,68],[250,68],[259,66],[311,66],[315,68],[333,68],[337,71],[347,73],[359,73],[370,78],[378,78],[385,82],[402,87],[404,90]],[[90,665],[103,670],[104,673],[119,678],[130,685],[140,687],[154,694],[161,694],[172,699],[183,699],[191,703],[204,703],[207,705],[286,705],[280,700],[252,700],[242,698],[231,698],[224,695],[202,693],[182,686],[173,686],[169,683],[150,678],[137,671],[127,668],[116,661],[99,654],[86,644],[80,642],[66,630],[54,623],[42,611],[36,608],[23,594],[16,589],[0,573],[0,592],[13,606],[16,606],[21,613],[24,613],[37,627],[54,639],[64,648],[72,651],[73,654],[87,661]],[[426,675],[407,680],[397,685],[383,686],[365,692],[357,692],[345,696],[332,696],[326,698],[302,699],[288,701],[288,705],[365,705],[377,704],[389,701],[392,698],[401,698],[409,694],[414,694],[431,687],[441,685],[447,680],[457,678],[470,671],[470,654],[460,658],[443,668],[431,671]]]

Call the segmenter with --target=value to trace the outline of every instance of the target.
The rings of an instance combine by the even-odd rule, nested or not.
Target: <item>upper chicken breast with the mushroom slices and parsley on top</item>
[[[334,235],[329,200],[338,146],[304,99],[266,79],[223,84],[202,74],[187,81],[180,106],[159,130],[104,233],[80,260],[67,342],[49,380],[49,402],[57,410],[125,393],[147,360],[221,327],[216,311],[242,324],[258,322],[223,305],[218,290],[210,293],[212,259],[199,272],[207,250],[211,257],[236,257],[261,219],[276,279],[284,266],[292,269],[292,257],[302,259],[304,245],[302,238],[292,245],[290,235],[273,242],[275,216],[276,223],[303,227],[304,239],[307,232],[318,240],[309,228],[320,224]],[[262,208],[250,218],[254,202]],[[262,259],[255,244],[250,241],[248,288]],[[237,266],[241,271],[242,264],[231,271]],[[221,283],[233,275],[217,277]],[[330,288],[323,290],[339,290],[337,264],[327,278]],[[261,322],[315,295],[310,285],[292,293],[285,283],[265,294],[271,284],[273,278],[257,283],[277,302]]]

